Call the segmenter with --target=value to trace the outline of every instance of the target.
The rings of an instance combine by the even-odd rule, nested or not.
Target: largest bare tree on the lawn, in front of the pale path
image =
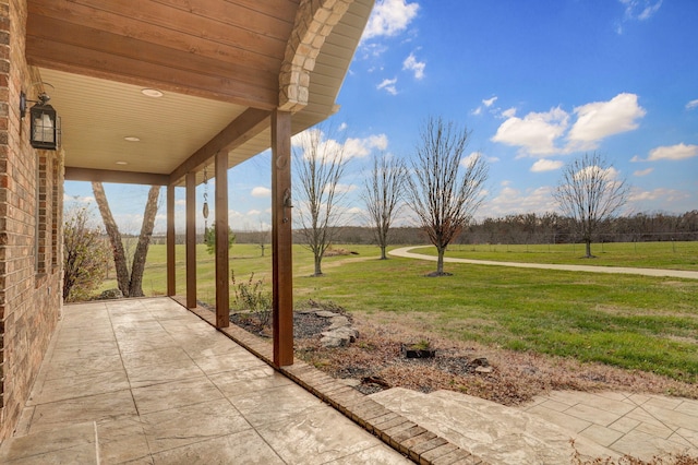
[[[468,136],[465,128],[441,118],[430,118],[420,131],[407,193],[419,226],[438,253],[432,276],[447,275],[444,252],[483,200],[488,165],[479,155],[464,158]]]

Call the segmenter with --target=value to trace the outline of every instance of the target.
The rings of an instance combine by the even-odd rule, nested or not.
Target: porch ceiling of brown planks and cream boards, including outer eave
[[[237,127],[229,166],[267,148],[299,1],[28,0],[27,62],[61,117],[67,168],[179,175]],[[325,40],[293,133],[336,110],[372,5],[352,2]]]

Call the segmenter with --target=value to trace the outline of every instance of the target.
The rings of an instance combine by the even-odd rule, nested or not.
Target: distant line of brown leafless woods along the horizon
[[[345,226],[335,231],[336,243],[374,243],[373,230],[366,226]],[[270,231],[236,231],[237,243],[265,243]],[[203,237],[203,235],[201,235]],[[429,243],[417,227],[396,227],[390,233],[394,245]],[[300,243],[300,235],[294,235]],[[203,240],[203,239],[202,239]],[[698,240],[698,210],[684,214],[638,213],[611,219],[599,228],[594,242],[653,242]],[[526,213],[473,222],[454,243],[574,243],[579,242],[574,219],[554,213]],[[198,240],[201,242],[201,240]],[[164,237],[153,237],[153,243],[165,243]],[[184,243],[183,235],[177,243]]]

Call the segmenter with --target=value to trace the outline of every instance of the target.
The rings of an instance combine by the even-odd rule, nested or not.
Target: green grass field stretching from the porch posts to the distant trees
[[[464,249],[448,252],[447,257],[477,254],[492,260],[497,254],[507,261],[554,257],[551,263],[574,260],[573,263],[602,265],[604,260],[605,264],[651,267],[652,263],[672,263],[671,267],[693,270],[697,246],[687,246],[693,252],[682,252],[686,258],[681,260],[672,258],[671,250],[664,250],[664,258],[660,252],[645,252],[633,259],[628,257],[633,245],[617,251],[605,245],[605,255],[598,261],[574,259],[575,253],[579,255],[580,246],[577,252],[553,251],[564,246],[551,246],[549,252]],[[325,276],[310,277],[312,255],[296,247],[297,302],[332,300],[374,321],[399,318],[413,327],[453,339],[575,357],[698,382],[698,281],[450,263],[446,271],[453,276],[430,278],[424,275],[433,271],[434,263],[398,258],[381,261],[375,247],[345,248],[359,254],[326,258]],[[183,252],[178,247],[178,294],[185,293]],[[255,278],[264,278],[269,285],[268,254],[261,258],[254,246],[233,245],[231,255],[230,266],[239,282],[254,272]],[[203,246],[197,257],[197,295],[213,303],[213,257]],[[115,284],[106,283],[104,287]],[[165,291],[164,246],[151,248],[144,291]]]

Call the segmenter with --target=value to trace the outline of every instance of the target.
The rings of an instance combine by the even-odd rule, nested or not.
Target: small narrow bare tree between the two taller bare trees
[[[364,181],[361,196],[375,241],[381,248],[381,260],[387,259],[388,233],[400,211],[406,179],[407,168],[400,159],[390,158],[385,153],[373,157],[373,169]]]

